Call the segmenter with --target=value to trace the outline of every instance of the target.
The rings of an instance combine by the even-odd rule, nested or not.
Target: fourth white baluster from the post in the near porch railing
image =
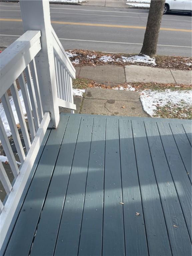
[[[30,149],[30,146],[31,146],[31,142],[30,142],[30,138],[29,138],[29,134],[28,134],[28,130],[27,130],[27,125],[26,125],[26,122],[25,122],[25,118],[24,118],[24,114],[23,114],[23,110],[22,110],[22,106],[21,106],[21,101],[20,101],[19,94],[18,94],[18,91],[17,91],[16,82],[14,82],[11,85],[10,89],[11,89],[11,94],[12,94],[13,101],[14,101],[14,104],[15,104],[15,109],[17,111],[17,116],[18,116],[18,119],[19,119],[19,123],[20,123],[20,126],[21,126],[21,131],[22,131],[22,134],[23,134],[23,139],[24,139],[24,142],[25,142],[26,150],[28,152],[29,149]]]

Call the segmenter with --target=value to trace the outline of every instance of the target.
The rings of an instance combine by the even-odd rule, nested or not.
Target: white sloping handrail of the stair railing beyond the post
[[[53,35],[53,48],[59,55],[59,57],[62,59],[64,65],[70,72],[73,79],[75,79],[75,68],[73,67],[69,57],[67,56],[61,42],[59,41],[59,38],[57,37],[53,27],[52,27],[52,35]],[[59,51],[60,50],[60,51]]]

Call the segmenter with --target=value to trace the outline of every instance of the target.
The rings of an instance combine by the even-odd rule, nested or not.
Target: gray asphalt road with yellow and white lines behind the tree
[[[65,49],[113,53],[141,50],[148,10],[51,4],[50,13]],[[189,14],[163,15],[157,53],[191,56],[191,21]],[[0,46],[10,45],[22,34],[19,4],[0,2]]]

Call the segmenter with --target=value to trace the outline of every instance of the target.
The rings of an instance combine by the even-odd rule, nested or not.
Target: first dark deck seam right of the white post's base
[[[67,124],[68,124],[68,121],[69,121],[69,117],[67,119]],[[66,128],[67,128],[67,124],[66,124],[65,130],[63,132],[63,137],[64,137],[64,134],[65,134],[65,131],[66,131]],[[52,171],[52,174],[51,174],[51,177],[50,177],[50,180],[49,180],[49,185],[48,185],[48,188],[47,188],[47,191],[46,191],[46,194],[45,194],[45,198],[44,198],[43,205],[42,205],[42,208],[41,208],[41,213],[40,213],[40,216],[39,216],[38,221],[37,221],[37,225],[36,225],[36,228],[35,228],[35,232],[34,232],[34,235],[33,235],[33,238],[32,238],[32,242],[31,242],[31,246],[30,246],[28,255],[30,255],[30,253],[31,253],[31,249],[32,249],[32,246],[33,246],[35,235],[37,233],[38,225],[39,225],[39,222],[40,222],[40,219],[41,219],[41,215],[42,215],[43,208],[44,208],[44,205],[45,205],[45,202],[46,202],[46,198],[47,198],[47,194],[48,194],[49,187],[50,187],[50,184],[51,184],[51,180],[52,180],[52,177],[53,177],[53,174],[54,174],[55,166],[56,166],[57,159],[58,159],[58,156],[59,156],[59,152],[60,152],[60,149],[61,149],[61,144],[62,144],[62,141],[63,141],[63,137],[62,137],[62,140],[61,140],[61,143],[60,143],[60,147],[59,147],[58,154],[57,154],[57,157],[56,157],[56,160],[55,160],[53,171]]]

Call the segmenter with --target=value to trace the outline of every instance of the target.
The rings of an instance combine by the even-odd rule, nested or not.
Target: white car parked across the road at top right
[[[163,14],[169,11],[191,12],[192,0],[166,0]]]

